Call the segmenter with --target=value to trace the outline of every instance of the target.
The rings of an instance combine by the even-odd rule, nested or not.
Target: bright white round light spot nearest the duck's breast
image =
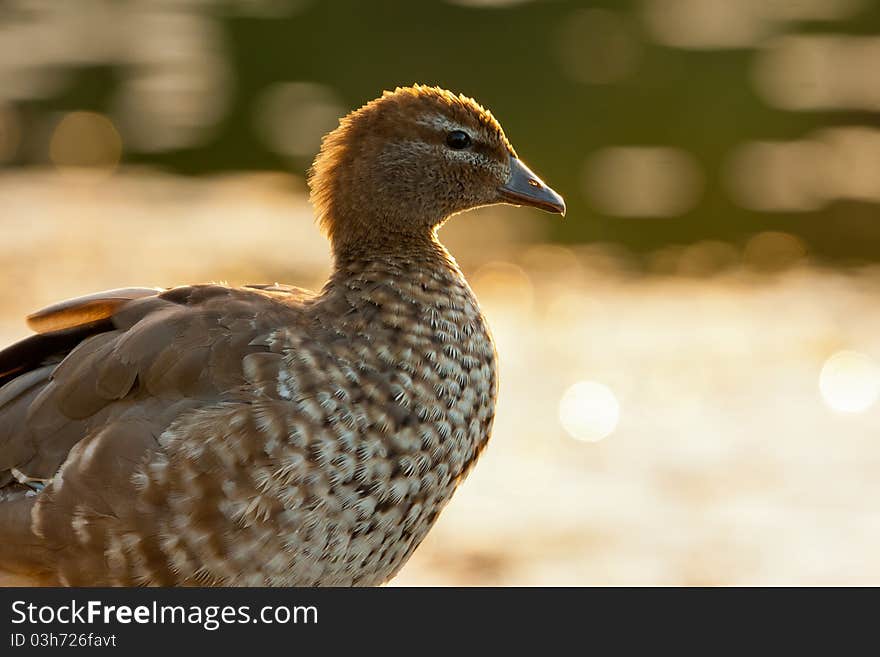
[[[575,383],[559,401],[559,422],[576,440],[598,442],[614,431],[619,420],[617,397],[595,381]]]

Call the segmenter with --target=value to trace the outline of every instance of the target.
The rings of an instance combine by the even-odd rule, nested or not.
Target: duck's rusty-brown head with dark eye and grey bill
[[[492,114],[437,87],[398,88],[329,133],[309,177],[335,249],[434,234],[450,215],[495,203],[565,214]]]

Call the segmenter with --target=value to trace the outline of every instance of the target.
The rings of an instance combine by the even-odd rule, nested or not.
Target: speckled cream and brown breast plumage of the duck
[[[269,350],[244,361],[253,398],[175,423],[135,476],[149,524],[110,528],[108,579],[314,586],[394,575],[494,415],[491,338],[440,257],[441,267],[343,266],[298,325],[262,336]]]

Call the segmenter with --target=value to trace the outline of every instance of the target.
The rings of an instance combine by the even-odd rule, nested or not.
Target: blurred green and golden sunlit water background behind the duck
[[[880,3],[5,0],[0,342],[62,298],[319,287],[304,174],[382,89],[565,197],[442,232],[495,435],[397,584],[880,584]]]

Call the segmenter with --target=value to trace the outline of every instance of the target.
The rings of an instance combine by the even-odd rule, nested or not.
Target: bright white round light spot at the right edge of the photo
[[[857,351],[839,351],[822,366],[822,399],[835,411],[862,413],[880,398],[880,365]]]

